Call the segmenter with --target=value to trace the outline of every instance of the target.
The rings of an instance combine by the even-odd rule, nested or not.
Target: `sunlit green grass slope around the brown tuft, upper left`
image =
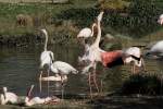
[[[10,4],[0,3],[0,35],[17,35],[24,33],[33,33],[34,29],[42,27],[51,27],[51,22],[54,16],[62,11],[75,8],[88,8],[93,7],[95,0],[72,0],[71,3],[65,4],[50,4],[50,3],[23,3],[23,4]],[[39,20],[39,26],[34,27],[20,27],[16,25],[16,15],[27,14],[33,20]],[[50,21],[50,23],[49,23]],[[52,33],[52,32],[51,32]]]

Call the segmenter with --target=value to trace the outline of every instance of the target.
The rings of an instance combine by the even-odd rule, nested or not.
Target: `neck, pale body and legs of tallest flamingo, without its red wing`
[[[101,52],[104,52],[102,49],[99,48],[99,43],[101,38],[101,28],[100,28],[100,22],[103,16],[103,11],[100,12],[100,14],[97,17],[97,28],[98,28],[98,34],[95,43],[92,45],[86,45],[87,48],[85,50],[85,55],[79,58],[79,62],[87,62],[87,65],[83,69],[82,73],[87,73],[89,72],[90,68],[92,68],[92,74],[93,74],[93,83],[96,85],[97,90],[99,92],[97,81],[96,81],[96,68],[97,63],[100,61],[101,62]],[[92,93],[91,93],[91,84],[90,84],[90,76],[91,74],[89,73],[89,88],[90,88],[90,97],[92,98]]]

